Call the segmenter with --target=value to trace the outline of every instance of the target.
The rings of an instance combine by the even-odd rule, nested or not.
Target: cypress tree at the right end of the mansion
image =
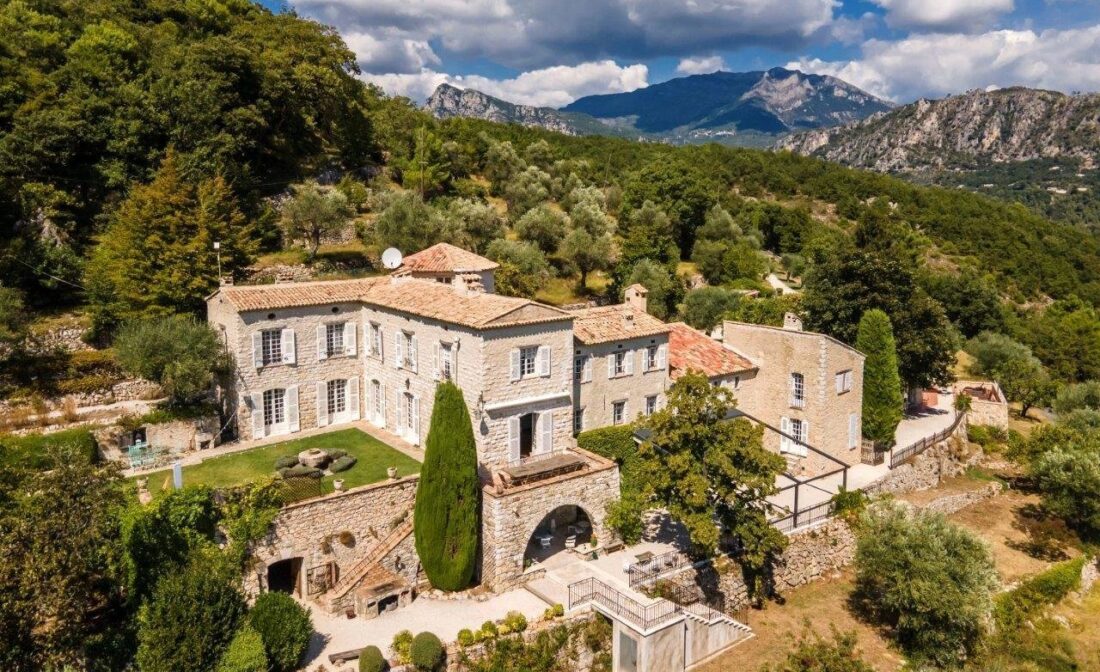
[[[904,398],[898,374],[898,345],[886,312],[872,309],[859,320],[856,349],[864,363],[864,437],[889,444],[901,422]]]

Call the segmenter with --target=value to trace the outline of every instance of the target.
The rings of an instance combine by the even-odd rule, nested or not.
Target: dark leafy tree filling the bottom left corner
[[[2,445],[0,455],[9,455]],[[50,469],[0,469],[0,668],[122,669],[130,654],[122,592],[118,469],[75,445]]]

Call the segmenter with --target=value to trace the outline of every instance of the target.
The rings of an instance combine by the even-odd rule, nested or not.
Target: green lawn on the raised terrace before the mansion
[[[386,469],[397,467],[398,476],[420,473],[420,463],[405,453],[394,450],[374,437],[359,429],[342,429],[308,439],[296,439],[255,448],[252,450],[211,458],[199,464],[184,467],[184,485],[209,485],[227,487],[240,485],[263,476],[275,474],[275,460],[283,455],[297,455],[299,452],[320,448],[324,450],[343,450],[356,460],[355,466],[336,476],[344,480],[344,487],[356,487],[369,483],[384,481]],[[167,472],[154,472],[150,476],[151,491],[160,488],[157,476]],[[146,474],[142,474],[144,476]],[[324,476],[321,482],[326,492],[332,492],[332,480],[336,476]]]

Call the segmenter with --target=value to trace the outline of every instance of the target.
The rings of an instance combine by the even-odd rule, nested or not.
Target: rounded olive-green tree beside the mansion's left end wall
[[[174,405],[204,398],[232,370],[213,329],[186,316],[129,322],[114,348],[123,368],[161,385]]]

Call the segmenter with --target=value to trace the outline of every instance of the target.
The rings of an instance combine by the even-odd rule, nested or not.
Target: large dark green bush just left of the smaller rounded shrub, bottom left
[[[245,615],[238,568],[217,548],[164,575],[138,618],[142,672],[206,672],[218,667]]]

